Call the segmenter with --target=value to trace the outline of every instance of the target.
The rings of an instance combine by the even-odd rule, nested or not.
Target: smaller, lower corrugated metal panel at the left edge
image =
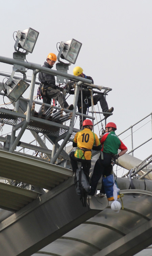
[[[37,198],[34,191],[0,182],[0,208],[18,211]]]

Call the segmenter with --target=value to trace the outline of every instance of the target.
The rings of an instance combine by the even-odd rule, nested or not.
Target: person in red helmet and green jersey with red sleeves
[[[91,178],[91,192],[90,195],[94,195],[96,192],[98,181],[101,176],[109,176],[112,172],[112,160],[115,164],[116,159],[124,155],[127,152],[127,147],[118,138],[115,131],[117,126],[113,122],[109,122],[105,126],[105,133],[100,137],[100,143],[102,145],[101,154],[99,159],[95,163],[93,175]],[[121,152],[118,154],[118,149]],[[102,191],[100,191],[102,192]]]

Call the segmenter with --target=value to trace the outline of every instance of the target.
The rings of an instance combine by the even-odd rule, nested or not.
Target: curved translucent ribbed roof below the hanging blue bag
[[[134,255],[138,249],[144,249],[145,237],[134,238],[134,233],[139,228],[150,224],[152,220],[152,192],[144,190],[123,190],[124,209],[119,213],[113,212],[110,208],[111,202],[106,209],[98,213],[94,217],[88,219],[83,224],[71,230],[64,236],[58,238],[50,245],[44,247],[33,256],[56,255],[56,256],[92,256],[102,255],[102,250],[106,250],[110,245],[111,254],[103,255],[125,255],[124,251],[128,251],[126,255]],[[119,199],[118,201],[121,202]],[[148,230],[147,239],[151,236]],[[144,230],[143,230],[144,236]],[[128,245],[128,237],[132,238],[132,242]],[[137,238],[137,234],[136,234]],[[126,244],[122,242],[126,239]],[[117,246],[119,251],[114,250],[114,243],[118,242],[122,248]],[[146,244],[146,243],[145,243]],[[133,254],[129,254],[129,251]],[[99,253],[99,254],[98,254]]]

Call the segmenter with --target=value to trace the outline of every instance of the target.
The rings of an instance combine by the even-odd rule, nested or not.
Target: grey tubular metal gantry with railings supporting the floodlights
[[[13,60],[13,59],[9,59],[9,58],[5,58],[0,56],[0,62],[4,62],[7,64],[11,64],[11,65],[21,65],[21,62],[18,60]],[[82,77],[75,77],[73,75],[70,74],[65,74],[64,72],[61,71],[56,71],[56,70],[52,70],[52,69],[48,69],[48,68],[44,68],[41,67],[40,65],[37,64],[33,64],[33,63],[22,63],[22,65],[24,66],[24,68],[28,68],[33,70],[33,74],[32,74],[32,80],[31,80],[31,86],[30,86],[30,93],[29,93],[29,98],[25,99],[23,97],[20,97],[20,99],[14,103],[12,102],[13,106],[15,107],[15,110],[17,112],[14,111],[9,111],[6,109],[0,109],[0,121],[1,123],[6,123],[9,125],[12,125],[12,132],[11,132],[11,136],[7,136],[6,140],[5,138],[0,138],[1,141],[5,141],[5,150],[9,150],[9,152],[15,152],[15,149],[18,145],[21,145],[23,147],[26,146],[27,144],[23,142],[21,142],[21,138],[25,132],[25,130],[30,130],[32,132],[32,134],[34,135],[35,133],[35,137],[38,137],[37,134],[38,133],[43,133],[45,135],[45,137],[52,143],[53,145],[53,149],[52,151],[49,151],[47,153],[50,153],[49,156],[49,161],[50,163],[55,163],[57,158],[59,157],[59,155],[63,152],[65,145],[67,144],[68,141],[72,141],[74,138],[74,135],[77,131],[79,131],[78,129],[74,128],[74,120],[75,120],[75,115],[79,116],[81,115],[80,113],[76,112],[76,107],[77,107],[77,100],[78,100],[78,94],[79,94],[79,87],[82,83],[87,83],[86,85],[89,85],[91,88],[97,88],[97,89],[103,89],[104,90],[104,94],[107,94],[107,92],[109,92],[110,90],[112,90],[111,88],[106,88],[106,87],[102,87],[102,86],[96,86],[91,84],[91,80],[89,79],[85,79]],[[69,79],[74,79],[77,80],[79,82],[76,83],[76,88],[75,88],[75,94],[74,94],[74,110],[71,113],[71,120],[70,120],[70,125],[66,126],[65,124],[59,123],[59,122],[53,122],[50,120],[45,120],[42,118],[36,118],[35,116],[33,116],[31,109],[32,109],[32,104],[39,104],[40,107],[42,107],[42,105],[44,105],[44,103],[41,103],[39,101],[35,101],[33,100],[33,93],[34,93],[34,87],[35,87],[35,83],[36,83],[36,74],[39,71],[43,71],[46,73],[51,73],[54,75],[60,75],[63,77],[68,77]],[[0,73],[3,76],[6,76],[6,73]],[[9,75],[8,75],[9,77]],[[37,83],[36,83],[37,84]],[[5,90],[5,84],[0,83],[1,86],[1,90]],[[1,95],[5,95],[4,93],[0,93]],[[49,104],[45,104],[46,106],[50,107]],[[54,107],[53,109],[57,109],[57,110],[61,110],[61,108],[59,107]],[[67,114],[70,113],[69,110],[64,110]],[[26,115],[24,114],[26,113]],[[101,112],[103,113],[103,112]],[[42,113],[40,113],[42,114]],[[109,113],[109,115],[111,115],[111,113]],[[84,115],[85,117],[91,118],[91,119],[95,119],[93,113],[92,116],[87,116]],[[63,117],[64,118],[64,117]],[[64,119],[63,119],[64,121]],[[19,131],[18,135],[16,136],[16,132]],[[58,144],[59,141],[62,140],[61,145]],[[39,144],[40,144],[40,150],[37,147],[33,147],[35,148],[35,150],[39,150],[39,152],[43,152],[46,154],[46,151],[49,149],[44,149],[43,150],[43,146],[44,143],[41,140],[41,137],[39,136]],[[32,146],[27,146],[27,148],[31,148]],[[62,154],[63,155],[63,154]],[[66,155],[66,154],[65,154]],[[68,157],[68,156],[67,156]]]

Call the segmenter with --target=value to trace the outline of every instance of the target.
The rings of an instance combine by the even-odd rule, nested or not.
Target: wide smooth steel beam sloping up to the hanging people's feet
[[[1,222],[0,256],[30,256],[100,211],[82,206],[71,178]]]

